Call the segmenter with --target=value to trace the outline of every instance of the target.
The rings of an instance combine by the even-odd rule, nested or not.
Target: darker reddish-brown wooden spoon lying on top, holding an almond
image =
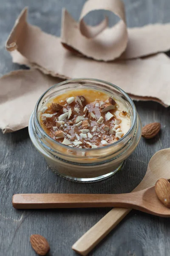
[[[166,188],[165,194],[169,193],[165,190]],[[162,194],[159,187],[157,193]],[[17,209],[130,207],[153,215],[170,217],[170,209],[159,201],[155,186],[126,194],[17,194],[13,195],[12,204]]]

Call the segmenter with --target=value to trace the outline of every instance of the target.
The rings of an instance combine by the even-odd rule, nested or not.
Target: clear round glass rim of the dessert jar
[[[78,83],[78,82],[82,82],[82,81],[95,81],[95,82],[100,82],[100,83],[103,83],[103,84],[107,84],[111,87],[114,87],[116,90],[118,90],[120,93],[122,93],[123,96],[125,96],[125,98],[128,100],[128,102],[130,103],[131,107],[132,107],[132,111],[133,111],[133,122],[132,122],[132,125],[129,129],[129,131],[127,131],[127,133],[118,141],[110,144],[110,145],[105,145],[105,148],[109,148],[113,145],[119,145],[120,143],[124,142],[126,140],[126,138],[128,137],[128,135],[130,134],[131,131],[133,131],[133,128],[135,128],[135,125],[136,125],[136,119],[137,119],[137,112],[136,112],[136,107],[133,103],[133,100],[128,96],[127,93],[125,93],[124,90],[122,90],[121,88],[119,88],[118,86],[116,86],[115,84],[112,84],[112,83],[109,83],[107,81],[104,81],[104,80],[100,80],[100,79],[93,79],[93,78],[77,78],[77,79],[69,79],[69,80],[66,80],[66,81],[62,81],[58,84],[54,84],[53,86],[51,86],[50,88],[48,88],[41,96],[40,98],[38,99],[37,101],[37,104],[35,106],[35,110],[34,110],[34,117],[35,117],[35,121],[36,121],[36,124],[38,125],[38,128],[39,130],[48,138],[48,140],[50,140],[52,143],[56,143],[57,145],[59,146],[62,146],[63,148],[66,148],[66,149],[70,149],[70,147],[68,147],[67,145],[64,145],[64,144],[61,144],[55,140],[53,140],[50,136],[48,136],[48,134],[45,133],[45,131],[43,130],[42,126],[40,125],[40,121],[39,121],[39,118],[38,118],[38,106],[42,100],[42,98],[45,96],[45,94],[47,92],[49,92],[50,90],[54,89],[54,88],[57,88],[63,84],[68,84],[68,83]],[[97,151],[97,150],[103,150],[102,147],[99,147],[99,148],[71,148],[72,151]]]

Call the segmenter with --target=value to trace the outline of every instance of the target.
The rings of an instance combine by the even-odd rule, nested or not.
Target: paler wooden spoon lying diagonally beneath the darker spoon
[[[139,185],[133,190],[139,191],[154,186],[160,178],[170,177],[170,148],[162,149],[150,159],[147,172]],[[99,242],[108,235],[131,209],[114,208],[88,230],[73,244],[72,249],[77,253],[87,255]]]

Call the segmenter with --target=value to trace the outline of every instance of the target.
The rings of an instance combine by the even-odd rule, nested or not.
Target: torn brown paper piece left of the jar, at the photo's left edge
[[[37,100],[61,79],[38,70],[17,70],[0,78],[0,128],[3,133],[28,126]]]

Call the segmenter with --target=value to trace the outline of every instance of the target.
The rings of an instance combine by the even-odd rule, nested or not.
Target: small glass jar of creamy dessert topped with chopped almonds
[[[113,175],[141,137],[133,101],[97,79],[71,79],[49,88],[29,122],[34,146],[57,174],[77,181]]]

